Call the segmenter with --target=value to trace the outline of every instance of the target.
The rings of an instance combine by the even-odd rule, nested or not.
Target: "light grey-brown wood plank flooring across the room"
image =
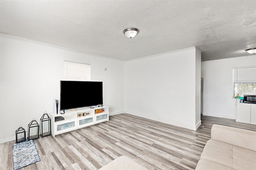
[[[192,170],[210,139],[213,124],[256,131],[256,125],[202,116],[198,130],[189,130],[128,114],[109,122],[34,140],[41,161],[24,170],[97,170],[125,155],[150,170]],[[0,169],[12,170],[12,144],[0,144]]]

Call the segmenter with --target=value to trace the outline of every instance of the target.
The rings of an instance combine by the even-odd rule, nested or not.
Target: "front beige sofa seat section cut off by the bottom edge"
[[[195,170],[232,170],[231,168],[212,162],[210,160],[200,159]]]

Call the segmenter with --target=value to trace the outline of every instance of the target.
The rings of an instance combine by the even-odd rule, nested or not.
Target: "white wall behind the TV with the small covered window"
[[[110,115],[124,113],[123,61],[0,35],[0,142],[14,140],[20,125],[27,130],[33,118],[39,123],[44,111],[53,111],[64,60],[91,64],[91,80],[104,82]]]

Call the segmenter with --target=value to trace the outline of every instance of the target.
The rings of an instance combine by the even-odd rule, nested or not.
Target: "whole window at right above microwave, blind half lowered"
[[[256,67],[233,69],[234,96],[256,95]]]

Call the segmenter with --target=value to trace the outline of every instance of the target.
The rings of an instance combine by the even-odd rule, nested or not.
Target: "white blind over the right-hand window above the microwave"
[[[233,83],[256,83],[256,67],[234,68]]]

